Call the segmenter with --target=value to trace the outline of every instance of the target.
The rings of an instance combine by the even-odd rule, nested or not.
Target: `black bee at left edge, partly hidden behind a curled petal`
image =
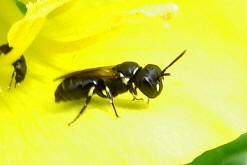
[[[6,55],[12,49],[13,48],[9,47],[8,44],[1,45],[0,54],[3,53]],[[15,77],[15,87],[16,87],[17,84],[21,83],[25,79],[27,73],[27,64],[23,55],[18,60],[16,60],[12,65],[14,67],[14,71],[12,73],[11,80],[9,83],[9,87],[8,87],[9,89],[11,88],[11,84],[14,77]]]

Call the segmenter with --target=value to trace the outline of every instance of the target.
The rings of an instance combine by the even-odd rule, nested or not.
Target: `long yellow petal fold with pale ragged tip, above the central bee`
[[[133,12],[144,9],[153,13],[153,16],[149,18],[147,14],[139,15]],[[160,11],[157,12],[156,9]],[[175,4],[159,3],[148,7],[137,1],[129,2],[128,5],[126,2],[115,2],[92,7],[77,1],[68,11],[46,21],[34,45],[39,45],[39,49],[49,49],[49,53],[85,50],[85,47],[114,36],[126,26],[150,26],[152,23],[153,26],[163,26],[176,12]],[[79,21],[75,19],[78,16]],[[43,45],[45,47],[42,47]]]

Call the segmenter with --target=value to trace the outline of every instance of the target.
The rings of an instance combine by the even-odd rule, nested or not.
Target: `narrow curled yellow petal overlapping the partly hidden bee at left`
[[[46,17],[59,7],[63,7],[72,0],[43,0],[28,3],[25,17],[16,22],[8,32],[8,43],[13,47],[8,56],[2,56],[0,64],[11,64],[29,47],[40,32]]]

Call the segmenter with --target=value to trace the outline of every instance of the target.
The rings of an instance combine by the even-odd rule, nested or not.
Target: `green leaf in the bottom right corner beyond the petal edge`
[[[247,133],[230,143],[204,152],[188,165],[247,165]]]

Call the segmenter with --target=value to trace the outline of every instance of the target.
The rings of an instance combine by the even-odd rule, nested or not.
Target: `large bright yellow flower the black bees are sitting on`
[[[156,0],[43,0],[24,17],[0,3],[14,47],[0,56],[0,164],[184,164],[246,131],[247,2],[175,1],[170,21],[178,8]],[[55,104],[62,74],[123,61],[164,68],[184,49],[149,105],[114,99],[119,119],[95,96],[68,127],[84,100]],[[26,79],[8,91],[23,53]]]

